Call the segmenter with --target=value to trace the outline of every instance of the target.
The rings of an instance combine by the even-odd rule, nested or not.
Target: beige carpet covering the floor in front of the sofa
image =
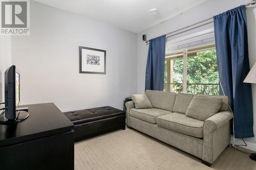
[[[197,157],[126,128],[76,142],[75,169],[252,170],[256,161],[229,147],[208,167]]]

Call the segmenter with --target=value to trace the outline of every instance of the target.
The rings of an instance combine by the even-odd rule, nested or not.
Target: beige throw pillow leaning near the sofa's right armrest
[[[221,103],[222,98],[219,96],[196,94],[189,104],[185,115],[205,121],[219,111]]]

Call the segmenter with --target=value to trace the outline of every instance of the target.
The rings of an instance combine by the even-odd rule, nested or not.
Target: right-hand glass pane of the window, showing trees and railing
[[[219,94],[219,75],[214,45],[188,50],[187,93]]]

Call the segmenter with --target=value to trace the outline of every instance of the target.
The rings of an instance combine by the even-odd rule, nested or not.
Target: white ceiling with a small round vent
[[[35,0],[139,33],[207,0]],[[158,13],[151,15],[156,8]]]

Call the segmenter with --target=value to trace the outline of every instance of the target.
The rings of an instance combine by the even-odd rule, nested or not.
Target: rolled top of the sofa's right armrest
[[[205,120],[203,131],[213,132],[229,122],[231,118],[233,118],[233,114],[230,111],[218,112]]]

